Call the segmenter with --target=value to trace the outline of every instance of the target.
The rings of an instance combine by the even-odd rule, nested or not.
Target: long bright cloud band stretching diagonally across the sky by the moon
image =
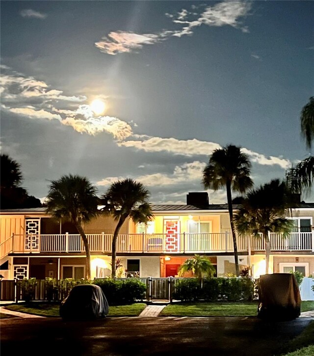
[[[154,137],[137,135],[133,132],[132,123],[111,116],[95,116],[88,104],[83,104],[85,96],[65,95],[61,90],[50,88],[41,80],[26,77],[21,73],[4,68],[1,79],[1,108],[30,119],[58,120],[62,125],[71,126],[75,131],[88,135],[110,134],[119,147],[127,147],[150,153],[167,152],[173,156],[196,158],[208,156],[221,146],[216,142],[201,141],[197,138],[178,139],[174,137]],[[74,109],[73,107],[77,105]],[[136,127],[135,125],[133,125]],[[283,157],[265,156],[247,148],[242,148],[251,161],[261,165],[278,165],[282,169],[291,166]],[[158,181],[161,184],[179,182],[183,177],[191,177],[193,172],[200,171],[200,161],[175,168],[175,179],[156,173],[152,177],[141,177],[149,185]],[[197,173],[197,174],[198,174]],[[195,175],[196,176],[196,175]]]

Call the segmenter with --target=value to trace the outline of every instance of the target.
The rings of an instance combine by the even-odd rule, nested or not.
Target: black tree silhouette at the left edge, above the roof
[[[26,189],[20,187],[23,181],[21,165],[8,155],[1,154],[0,166],[0,208],[40,207],[40,200],[33,195],[28,195]]]

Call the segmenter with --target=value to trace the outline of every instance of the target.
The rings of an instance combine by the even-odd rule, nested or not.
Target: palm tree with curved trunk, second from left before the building
[[[103,211],[118,221],[112,238],[111,278],[116,276],[116,246],[121,226],[126,219],[131,218],[134,223],[147,224],[154,217],[148,202],[150,192],[140,182],[123,179],[114,182],[103,195],[105,207]]]

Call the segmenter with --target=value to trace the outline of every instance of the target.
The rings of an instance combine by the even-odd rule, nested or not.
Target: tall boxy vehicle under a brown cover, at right
[[[300,315],[301,297],[293,274],[261,275],[258,316],[262,319],[291,320]]]

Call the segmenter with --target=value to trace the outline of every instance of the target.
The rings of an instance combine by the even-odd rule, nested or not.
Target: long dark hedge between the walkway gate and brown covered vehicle
[[[173,298],[181,301],[252,301],[250,278],[184,278],[177,280]]]

